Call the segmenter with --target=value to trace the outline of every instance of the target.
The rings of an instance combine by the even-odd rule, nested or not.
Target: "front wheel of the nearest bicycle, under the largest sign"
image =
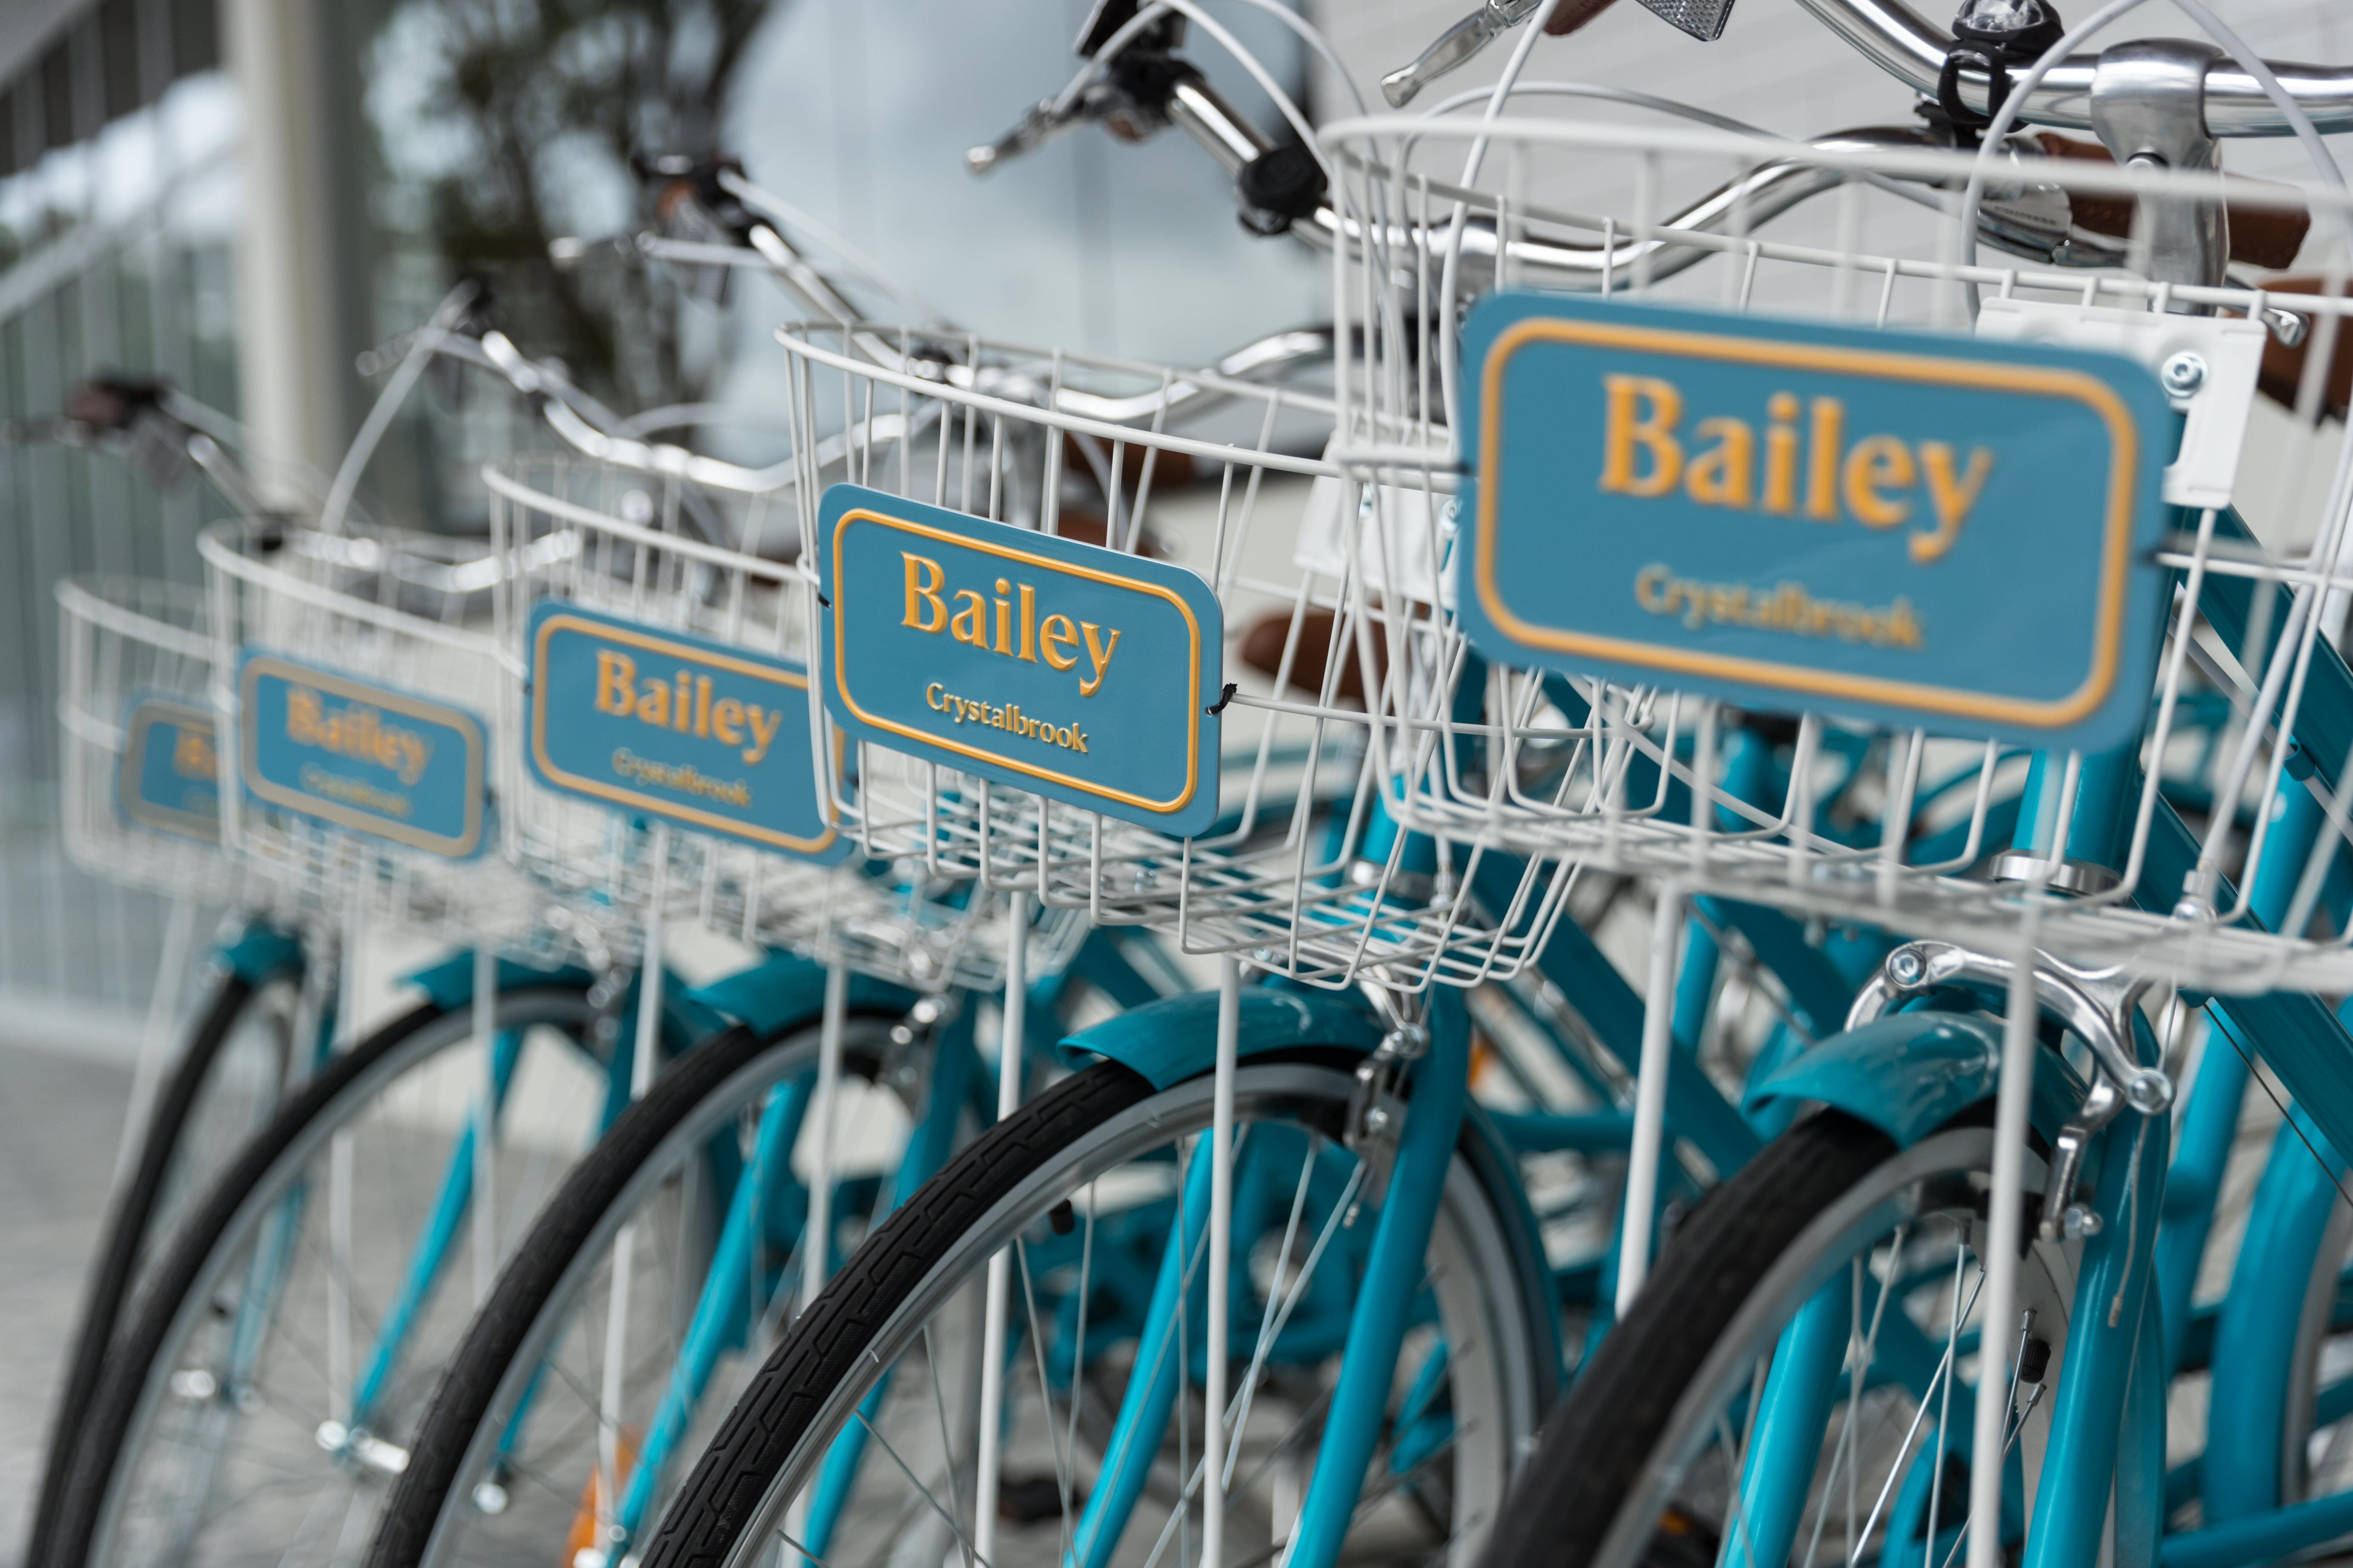
[[[1991,1166],[1981,1126],[1897,1152],[1838,1112],[1767,1145],[1602,1340],[1480,1568],[1958,1563]],[[2033,1516],[2080,1251],[2019,1265],[2005,1547]]]

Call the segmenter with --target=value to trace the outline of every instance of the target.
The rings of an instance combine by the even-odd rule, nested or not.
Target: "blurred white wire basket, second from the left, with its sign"
[[[226,522],[205,529],[198,552],[209,581],[214,708],[238,738],[221,769],[224,842],[280,898],[325,919],[358,912],[536,964],[633,959],[628,910],[565,898],[494,853],[501,813],[529,785],[506,762],[513,677],[489,637],[499,571],[478,543]],[[271,698],[259,696],[266,689]],[[264,712],[266,701],[280,710]],[[285,736],[264,741],[273,726]],[[421,811],[405,823],[398,792],[325,762],[395,745],[402,729],[471,752],[452,776],[459,816],[449,823]],[[259,748],[273,743],[322,762],[259,769]],[[416,766],[398,745],[381,755],[395,769]],[[445,766],[452,755],[442,752]],[[252,785],[261,773],[266,795]]]

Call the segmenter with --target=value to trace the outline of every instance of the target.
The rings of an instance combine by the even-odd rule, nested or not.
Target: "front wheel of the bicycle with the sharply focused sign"
[[[1348,1222],[1365,1168],[1332,1138],[1351,1070],[1339,1053],[1301,1051],[1252,1058],[1235,1079],[1231,1347],[1247,1359],[1228,1408],[1235,1563],[1268,1559],[1294,1523],[1377,1229]],[[1209,1182],[1193,1152],[1209,1112],[1209,1074],[1155,1091],[1096,1065],[981,1135],[784,1338],[680,1486],[645,1568],[765,1561],[788,1537],[786,1561],[805,1552],[833,1568],[972,1554],[981,1281],[1000,1248],[1012,1258],[1005,1486],[988,1561],[1141,1563],[1181,1535],[1205,1415],[1176,1392],[1205,1373]],[[1544,1258],[1506,1218],[1511,1180],[1466,1126],[1355,1500],[1353,1556],[1466,1563],[1551,1396]],[[1158,1319],[1146,1314],[1155,1276],[1174,1298]],[[1134,1410],[1101,1453],[1080,1450],[1092,1399]],[[1160,1495],[1146,1486],[1153,1469]]]

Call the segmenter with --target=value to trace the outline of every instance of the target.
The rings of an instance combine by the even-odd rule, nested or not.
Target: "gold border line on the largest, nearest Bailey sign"
[[[1880,381],[1913,381],[1922,386],[1962,386],[1986,390],[2017,390],[2035,397],[2066,397],[2087,404],[2108,425],[2108,520],[2101,545],[2099,611],[2092,628],[2092,672],[2064,698],[2009,698],[1965,691],[1958,686],[1929,686],[1920,682],[1889,679],[1880,675],[1840,675],[1833,670],[1809,670],[1765,658],[1737,658],[1727,654],[1699,654],[1689,649],[1661,649],[1626,637],[1602,637],[1595,632],[1565,632],[1558,628],[1522,621],[1494,581],[1494,505],[1497,505],[1497,458],[1501,447],[1504,369],[1511,357],[1529,343],[1579,343],[1600,348],[1638,348],[1685,360],[1727,360],[1737,364],[1781,364],[1791,369],[1852,371]],[[1988,360],[1937,360],[1915,353],[1892,353],[1873,348],[1826,348],[1817,343],[1774,343],[1760,339],[1737,339],[1711,331],[1675,331],[1666,327],[1626,327],[1612,322],[1562,322],[1534,317],[1513,322],[1497,334],[1487,350],[1487,367],[1480,376],[1480,529],[1478,529],[1478,597],[1487,616],[1504,635],[1527,646],[1558,654],[1581,654],[1588,658],[1612,658],[1619,663],[1668,670],[1675,675],[1715,675],[1741,679],[1753,686],[1777,691],[1800,691],[1807,696],[1854,698],[1913,708],[1967,719],[2009,722],[2035,729],[2061,729],[2075,724],[2108,701],[2122,663],[2125,642],[2125,576],[2132,569],[2132,484],[2139,458],[2139,430],[2122,400],[2097,376],[2078,369],[2002,364]]]

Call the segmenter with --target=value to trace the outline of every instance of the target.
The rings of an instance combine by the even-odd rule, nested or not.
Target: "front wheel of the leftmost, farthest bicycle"
[[[172,1232],[188,1201],[228,1166],[238,1145],[278,1107],[280,1088],[294,1070],[299,992],[294,976],[254,985],[224,973],[155,1095],[148,1124],[141,1128],[139,1157],[106,1213],[106,1229],[89,1265],[82,1314],[56,1396],[56,1420],[49,1425],[26,1563],[49,1556],[82,1413],[99,1392],[139,1274],[153,1262],[155,1237]]]

